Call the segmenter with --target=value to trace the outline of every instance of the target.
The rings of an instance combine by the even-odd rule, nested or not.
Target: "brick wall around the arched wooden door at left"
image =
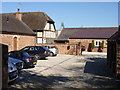
[[[1,41],[0,43],[8,45],[9,51],[14,50],[14,40],[13,38],[17,37],[17,50],[25,47],[25,46],[33,46],[35,45],[35,37],[34,36],[25,36],[25,35],[10,35],[10,34],[0,34]]]

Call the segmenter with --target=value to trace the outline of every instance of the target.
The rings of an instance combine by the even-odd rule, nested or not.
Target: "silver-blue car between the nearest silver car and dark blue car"
[[[23,61],[21,61],[20,59],[8,57],[8,62],[14,64],[18,72],[20,72],[23,69]]]

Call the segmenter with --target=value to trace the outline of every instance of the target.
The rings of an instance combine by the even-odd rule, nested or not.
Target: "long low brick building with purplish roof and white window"
[[[55,43],[81,43],[82,46],[85,46],[86,51],[107,52],[107,39],[110,38],[117,30],[117,27],[63,28],[59,37],[55,40]]]

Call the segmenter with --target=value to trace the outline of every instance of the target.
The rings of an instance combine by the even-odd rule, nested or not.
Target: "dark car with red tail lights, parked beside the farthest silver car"
[[[25,51],[31,56],[34,56],[36,60],[48,57],[50,55],[50,50],[45,49],[41,46],[27,46],[21,49],[20,51]]]

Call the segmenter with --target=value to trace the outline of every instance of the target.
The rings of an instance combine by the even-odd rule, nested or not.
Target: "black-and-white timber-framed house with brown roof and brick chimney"
[[[56,38],[55,22],[46,13],[20,12],[20,9],[18,9],[18,12],[16,13],[4,14],[19,18],[28,25],[37,34],[36,44],[54,43],[54,39]]]

